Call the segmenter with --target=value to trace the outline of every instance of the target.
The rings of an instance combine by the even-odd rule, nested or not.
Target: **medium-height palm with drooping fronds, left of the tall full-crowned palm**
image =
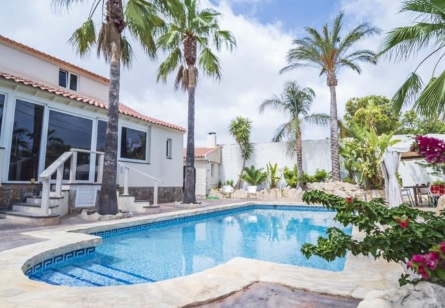
[[[288,153],[296,154],[296,167],[298,175],[298,187],[301,187],[299,179],[303,175],[303,151],[301,146],[301,129],[304,123],[318,125],[327,125],[329,116],[327,114],[309,114],[315,92],[311,88],[301,88],[295,81],[289,81],[285,84],[283,94],[280,97],[276,95],[271,99],[266,99],[259,105],[259,114],[262,114],[266,108],[272,108],[283,112],[289,120],[280,125],[272,138],[273,142],[279,142],[285,137],[288,138]]]

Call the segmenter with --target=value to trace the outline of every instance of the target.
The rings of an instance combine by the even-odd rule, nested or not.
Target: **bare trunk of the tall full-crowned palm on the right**
[[[332,181],[340,181],[340,147],[338,144],[338,116],[337,116],[337,77],[335,74],[328,74],[327,85],[331,92],[331,165]]]

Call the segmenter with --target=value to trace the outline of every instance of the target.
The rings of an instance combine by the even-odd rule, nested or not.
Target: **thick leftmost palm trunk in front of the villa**
[[[107,131],[105,133],[105,155],[103,177],[99,194],[98,212],[101,215],[118,213],[116,196],[118,119],[119,119],[119,84],[120,51],[116,43],[112,43],[110,60],[110,90],[108,94]]]

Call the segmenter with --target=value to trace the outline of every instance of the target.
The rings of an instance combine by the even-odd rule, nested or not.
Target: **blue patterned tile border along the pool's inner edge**
[[[222,210],[216,210],[209,213],[204,214],[197,214],[197,215],[190,215],[190,216],[184,216],[179,218],[172,218],[157,222],[147,222],[144,224],[136,224],[129,227],[120,227],[116,229],[111,230],[105,230],[105,231],[98,231],[98,232],[92,232],[88,233],[90,235],[96,235],[100,236],[101,238],[109,238],[115,235],[120,235],[123,233],[129,233],[132,231],[140,231],[140,230],[146,230],[151,227],[160,227],[160,226],[166,226],[169,224],[175,224],[176,222],[187,222],[187,221],[193,221],[193,220],[199,220],[201,218],[210,218],[214,216],[221,216],[224,214],[229,213],[236,213],[238,211],[245,211],[249,209],[292,209],[294,211],[333,211],[330,209],[325,209],[325,207],[321,206],[309,206],[309,205],[261,205],[261,204],[255,204],[255,205],[246,205],[243,207],[236,207],[233,209],[222,209]],[[32,274],[35,274],[36,272],[40,272],[41,270],[44,270],[44,268],[53,267],[57,264],[60,264],[64,261],[68,261],[69,259],[73,259],[74,257],[87,257],[96,251],[96,248],[94,246],[86,247],[86,248],[80,248],[75,251],[70,251],[68,253],[64,253],[61,255],[56,255],[55,257],[51,257],[49,259],[45,259],[38,264],[35,264],[34,266],[31,266],[25,271],[25,275],[27,277],[31,276]]]

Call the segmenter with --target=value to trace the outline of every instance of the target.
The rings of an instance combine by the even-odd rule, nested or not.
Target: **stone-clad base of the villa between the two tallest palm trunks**
[[[124,188],[118,188],[119,194],[123,194]],[[153,204],[153,187],[129,187],[128,193],[130,196],[136,198],[136,200],[149,201]],[[159,187],[157,188],[157,202],[167,203],[182,201],[182,188],[181,187]]]

